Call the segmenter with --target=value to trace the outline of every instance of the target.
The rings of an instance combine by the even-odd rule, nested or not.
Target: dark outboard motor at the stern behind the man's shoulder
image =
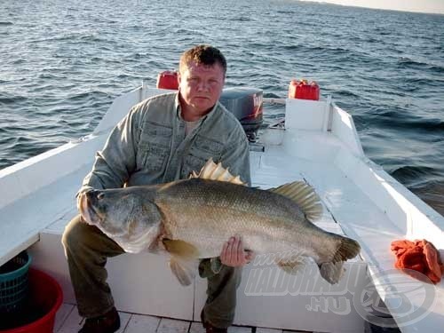
[[[219,102],[241,122],[250,141],[262,124],[263,92],[256,88],[226,88]]]

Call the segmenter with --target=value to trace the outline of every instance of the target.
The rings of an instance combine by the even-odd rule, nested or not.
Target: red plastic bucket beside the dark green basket
[[[22,312],[21,325],[2,333],[52,333],[57,311],[63,300],[59,283],[50,275],[29,269],[29,300]],[[19,313],[21,314],[21,313]]]

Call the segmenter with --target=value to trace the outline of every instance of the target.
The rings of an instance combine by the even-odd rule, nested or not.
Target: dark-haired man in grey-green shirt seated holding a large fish
[[[131,108],[97,153],[77,199],[91,189],[187,178],[210,157],[250,184],[248,140],[234,115],[218,103],[225,76],[226,59],[218,49],[199,45],[186,51],[179,63],[178,92]],[[79,333],[115,332],[120,320],[105,265],[123,249],[84,219],[77,216],[69,222],[62,238],[78,311],[86,318]],[[208,278],[202,309],[207,332],[226,332],[232,324],[242,266],[249,259],[241,239],[234,236],[221,249],[220,272],[212,272],[209,260],[202,260],[199,273]]]

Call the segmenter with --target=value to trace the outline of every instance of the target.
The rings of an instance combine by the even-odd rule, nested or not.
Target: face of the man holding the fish
[[[224,83],[224,68],[218,62],[213,65],[189,63],[178,74],[183,112],[205,115],[218,101]]]

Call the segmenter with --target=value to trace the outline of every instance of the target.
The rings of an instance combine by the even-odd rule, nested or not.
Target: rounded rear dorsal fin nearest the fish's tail
[[[322,203],[321,198],[314,192],[314,188],[303,181],[295,181],[279,187],[268,189],[268,191],[281,194],[296,202],[305,217],[310,221],[321,218]]]

